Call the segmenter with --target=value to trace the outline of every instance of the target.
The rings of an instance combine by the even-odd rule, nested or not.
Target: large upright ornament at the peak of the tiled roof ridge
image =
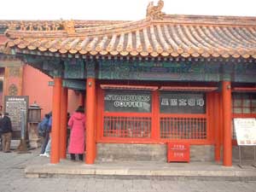
[[[147,18],[150,20],[163,20],[164,15],[166,15],[164,12],[162,12],[163,7],[163,0],[159,0],[156,6],[154,6],[154,2],[148,3],[146,15]]]

